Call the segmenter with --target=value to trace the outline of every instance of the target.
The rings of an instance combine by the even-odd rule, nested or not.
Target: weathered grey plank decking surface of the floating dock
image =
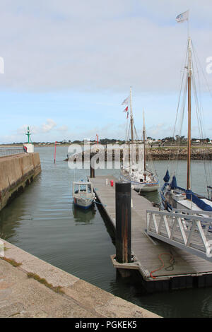
[[[108,179],[107,185],[106,179]],[[89,180],[93,183],[95,194],[115,228],[115,182],[117,182],[117,179],[108,175],[98,176]],[[110,180],[114,181],[113,187],[110,186]],[[203,275],[205,278],[206,275],[212,275],[212,263],[165,244],[165,242],[148,237],[145,232],[146,210],[154,210],[155,208],[153,208],[151,202],[139,196],[134,190],[132,190],[132,202],[131,247],[133,254],[136,256],[138,269],[144,280],[170,280],[170,278],[176,277],[199,277]],[[155,271],[162,265],[158,256],[163,253],[166,253],[161,256],[165,266],[159,271]],[[172,254],[175,260],[172,268],[168,268],[170,266],[170,255],[168,253]],[[135,268],[135,266],[132,267]],[[128,266],[126,265],[125,268],[128,268]],[[155,271],[153,273],[155,278],[151,278],[152,271]],[[209,282],[211,285],[212,278],[209,279],[211,280]]]

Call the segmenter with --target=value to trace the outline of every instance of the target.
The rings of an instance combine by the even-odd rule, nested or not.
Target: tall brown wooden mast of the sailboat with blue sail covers
[[[188,38],[188,143],[187,143],[187,190],[191,189],[191,113],[192,113],[192,45]]]

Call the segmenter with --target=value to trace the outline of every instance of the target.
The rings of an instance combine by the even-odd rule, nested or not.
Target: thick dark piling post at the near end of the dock
[[[131,263],[131,184],[116,182],[116,260]]]

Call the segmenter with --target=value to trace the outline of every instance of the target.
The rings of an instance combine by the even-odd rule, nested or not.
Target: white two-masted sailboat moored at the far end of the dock
[[[125,100],[126,101],[126,100]],[[136,134],[136,127],[134,124],[134,117],[133,117],[133,111],[132,111],[132,98],[131,98],[131,88],[130,88],[130,95],[129,100],[127,100],[127,103],[130,105],[130,123],[129,128],[126,130],[126,141],[128,141],[129,138],[129,131],[131,131],[131,148],[135,148],[136,144],[134,144],[134,137]],[[128,110],[128,107],[126,107]],[[137,137],[138,138],[138,137]],[[133,189],[136,191],[139,191],[140,193],[143,191],[156,191],[159,188],[159,182],[151,170],[148,170],[147,165],[147,153],[146,153],[146,127],[144,122],[144,114],[143,114],[143,146],[139,145],[142,155],[142,160],[137,163],[136,157],[134,156],[134,153],[132,153],[132,160],[130,162],[124,162],[121,167],[121,174],[120,174],[120,181],[122,182],[130,182]],[[129,149],[127,148],[127,152],[129,152]]]

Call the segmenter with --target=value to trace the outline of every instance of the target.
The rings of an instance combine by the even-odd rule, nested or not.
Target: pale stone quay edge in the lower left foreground
[[[38,259],[4,239],[0,239],[0,244],[4,247],[4,256],[0,256],[0,317],[160,318]],[[4,259],[13,259],[20,266],[13,267]],[[28,278],[28,273],[45,278],[53,287],[61,287],[63,294]]]

